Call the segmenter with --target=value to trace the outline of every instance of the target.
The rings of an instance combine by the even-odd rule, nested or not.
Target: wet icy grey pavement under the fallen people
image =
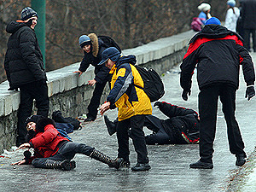
[[[256,54],[253,53],[254,61]],[[255,67],[255,64],[254,64]],[[170,102],[185,108],[198,109],[198,87],[196,73],[193,77],[192,94],[184,102],[181,98],[182,89],[179,86],[179,67],[173,67],[166,72],[162,79],[166,87],[166,95],[160,101]],[[241,135],[248,155],[256,146],[254,127],[256,125],[256,97],[250,102],[244,98],[246,84],[240,73],[240,88],[236,96],[236,119],[240,125]],[[115,119],[116,110],[106,113],[110,119]],[[153,114],[166,119],[166,116],[157,108]],[[150,134],[145,128],[145,133]],[[148,146],[149,164],[152,167],[148,172],[131,172],[131,169],[115,170],[101,162],[90,159],[83,154],[77,154],[74,160],[77,167],[70,171],[37,169],[32,166],[10,166],[10,163],[22,159],[22,151],[7,152],[9,156],[0,158],[0,190],[1,191],[227,191],[230,183],[236,191],[236,185],[247,183],[234,179],[234,173],[243,167],[235,165],[236,157],[230,154],[227,140],[224,114],[221,104],[218,105],[218,122],[214,142],[212,170],[190,169],[189,164],[199,159],[199,146],[190,145],[154,145]],[[117,156],[117,139],[115,134],[108,136],[107,128],[101,115],[96,121],[83,124],[83,129],[69,135],[76,143],[86,143],[91,147],[108,154]],[[137,154],[130,140],[131,165],[137,163]],[[255,158],[254,158],[255,159]],[[250,161],[252,162],[252,161]],[[254,161],[255,162],[255,161]],[[245,166],[249,165],[248,163]],[[251,163],[251,166],[255,164]],[[255,170],[255,168],[254,168]],[[236,174],[235,174],[236,175]],[[236,183],[232,183],[233,181]],[[255,183],[251,189],[256,189]],[[243,191],[246,191],[243,190]],[[252,190],[251,190],[252,191]]]

